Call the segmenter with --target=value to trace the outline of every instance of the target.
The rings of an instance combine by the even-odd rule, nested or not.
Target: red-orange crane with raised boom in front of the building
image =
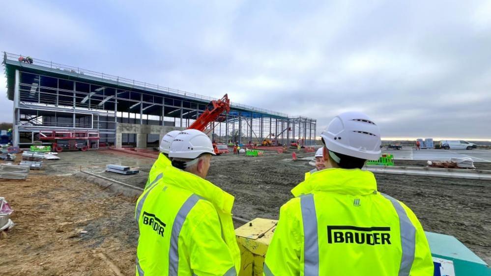
[[[189,126],[188,129],[197,129],[199,131],[204,132],[204,130],[206,129],[206,126],[209,123],[217,121],[217,120],[220,121],[219,118],[220,118],[220,115],[223,113],[223,111],[225,111],[227,113],[229,113],[229,111],[230,111],[230,100],[229,100],[229,96],[227,94],[225,94],[223,96],[223,98],[220,100],[211,101],[208,104],[208,106],[206,107],[206,110],[204,110],[204,112],[196,119],[196,121],[193,124],[191,124],[191,126]],[[217,154],[217,155],[222,154],[222,153],[228,153],[228,149],[227,149],[227,151],[225,151],[223,149],[219,149],[215,142],[213,142],[213,150],[215,151],[215,154]]]

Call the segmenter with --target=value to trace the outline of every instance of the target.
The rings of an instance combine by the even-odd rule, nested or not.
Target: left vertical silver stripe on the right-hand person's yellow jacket
[[[304,275],[319,274],[319,242],[316,205],[312,193],[300,196],[304,235]]]

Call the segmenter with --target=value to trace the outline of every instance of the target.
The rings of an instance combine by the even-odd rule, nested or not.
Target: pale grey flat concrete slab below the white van
[[[454,157],[470,157],[474,162],[491,162],[491,150],[444,150],[444,149],[422,149],[414,150],[404,148],[402,150],[382,150],[382,153],[394,155],[396,160],[433,160],[450,161]]]

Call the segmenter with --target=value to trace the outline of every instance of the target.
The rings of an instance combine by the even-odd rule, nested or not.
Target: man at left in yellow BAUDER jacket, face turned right
[[[199,130],[184,130],[174,138],[172,166],[137,201],[137,275],[237,275],[234,198],[204,179],[212,155],[211,140]]]

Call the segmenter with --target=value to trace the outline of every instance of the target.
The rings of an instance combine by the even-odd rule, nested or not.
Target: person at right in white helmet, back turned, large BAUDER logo
[[[266,276],[433,276],[423,228],[401,201],[377,191],[380,131],[345,112],[321,134],[326,169],[291,190],[267,250]]]

